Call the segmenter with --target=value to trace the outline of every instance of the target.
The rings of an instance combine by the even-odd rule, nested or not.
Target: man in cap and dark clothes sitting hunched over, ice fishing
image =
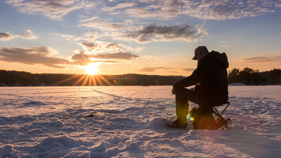
[[[208,113],[216,102],[228,101],[226,68],[229,63],[226,54],[209,52],[205,46],[197,47],[194,54],[192,59],[198,61],[197,68],[189,77],[173,85],[172,94],[175,94],[177,119],[168,124],[172,127],[186,127],[188,101],[198,104],[203,113]],[[194,88],[185,88],[196,83]]]

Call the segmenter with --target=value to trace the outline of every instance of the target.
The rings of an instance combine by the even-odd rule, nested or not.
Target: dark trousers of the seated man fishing
[[[186,122],[186,116],[189,110],[188,101],[198,104],[203,113],[207,113],[212,107],[212,104],[208,102],[203,93],[186,88],[176,89],[175,98],[177,120],[182,123]]]

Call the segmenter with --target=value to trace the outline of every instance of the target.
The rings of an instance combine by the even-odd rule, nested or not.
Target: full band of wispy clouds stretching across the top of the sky
[[[169,20],[179,15],[188,15],[204,20],[226,20],[255,17],[270,12],[279,12],[281,2],[275,0],[135,0],[124,1],[84,1],[84,0],[7,0],[19,12],[41,13],[51,19],[61,19],[77,9],[106,11],[129,17]],[[112,2],[112,3],[111,3]],[[116,4],[115,6],[105,6]],[[98,7],[95,7],[99,5]]]

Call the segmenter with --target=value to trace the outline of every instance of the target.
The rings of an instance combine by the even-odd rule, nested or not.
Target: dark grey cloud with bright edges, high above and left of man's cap
[[[147,43],[151,41],[198,41],[201,37],[208,36],[208,32],[203,27],[190,25],[173,26],[142,26],[136,32],[127,33],[114,39],[123,39],[126,41],[134,40],[138,43]]]

